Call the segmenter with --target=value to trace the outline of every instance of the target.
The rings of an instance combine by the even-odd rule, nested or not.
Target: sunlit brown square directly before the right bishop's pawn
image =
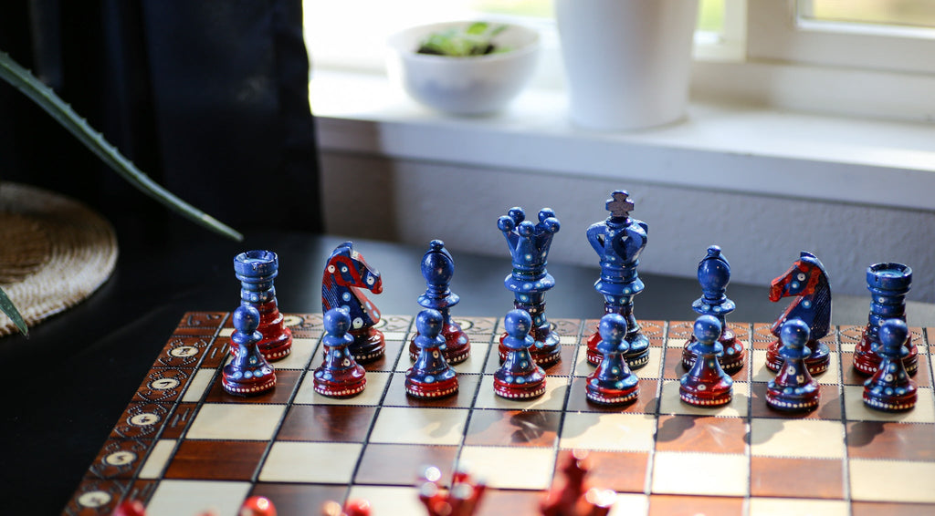
[[[660,415],[655,449],[660,452],[745,453],[744,419],[695,415]]]

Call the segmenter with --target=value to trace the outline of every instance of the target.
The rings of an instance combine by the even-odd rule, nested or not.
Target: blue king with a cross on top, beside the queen
[[[643,335],[633,315],[633,298],[643,291],[637,266],[646,247],[649,226],[630,218],[633,201],[628,195],[626,190],[611,193],[612,198],[607,201],[611,216],[587,229],[587,241],[600,257],[600,278],[594,288],[604,296],[604,314],[621,314],[626,318],[626,364],[639,369],[649,361],[649,338]],[[601,360],[597,342],[600,342],[599,331],[587,341],[587,361],[592,366],[597,366]]]

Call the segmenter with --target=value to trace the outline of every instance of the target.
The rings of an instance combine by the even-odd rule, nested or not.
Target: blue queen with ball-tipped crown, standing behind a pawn
[[[552,331],[545,316],[545,293],[555,286],[552,274],[545,266],[552,239],[559,230],[558,219],[550,208],[539,210],[539,224],[525,220],[523,208],[511,208],[509,215],[501,216],[496,227],[503,232],[510,248],[513,271],[504,285],[513,293],[513,308],[525,310],[532,317],[530,334],[535,342],[530,350],[539,366],[549,367],[561,359],[558,335]],[[500,359],[506,358],[506,334],[500,336]]]

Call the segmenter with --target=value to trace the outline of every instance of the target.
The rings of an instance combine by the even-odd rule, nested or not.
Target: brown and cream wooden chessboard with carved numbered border
[[[935,513],[935,397],[928,335],[919,348],[913,411],[870,411],[851,367],[861,328],[826,338],[831,367],[819,377],[821,406],[807,415],[771,411],[764,401],[769,325],[730,323],[746,342],[734,400],[701,410],[679,399],[680,354],[689,322],[641,321],[651,360],[638,370],[640,399],[602,409],[584,397],[583,337],[596,320],[553,320],[562,361],[532,401],[496,397],[496,317],[461,320],[472,356],[456,367],[460,392],[416,401],[403,389],[404,343],[413,317],[387,316],[386,357],[367,366],[367,390],[336,400],[312,390],[321,364],[321,314],[288,315],[293,353],[275,363],[274,392],[231,397],[220,368],[232,333],[229,314],[189,313],[120,421],[65,514],[109,514],[124,498],[151,516],[235,514],[248,495],[266,495],[281,516],[317,514],[325,500],[367,498],[376,516],[424,514],[413,483],[424,465],[450,478],[467,464],[489,486],[480,513],[538,514],[556,461],[592,452],[590,481],[617,491],[611,514]]]

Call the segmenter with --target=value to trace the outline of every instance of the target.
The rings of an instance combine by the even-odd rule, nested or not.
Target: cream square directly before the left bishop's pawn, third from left
[[[370,442],[460,444],[468,423],[466,409],[383,407]]]

